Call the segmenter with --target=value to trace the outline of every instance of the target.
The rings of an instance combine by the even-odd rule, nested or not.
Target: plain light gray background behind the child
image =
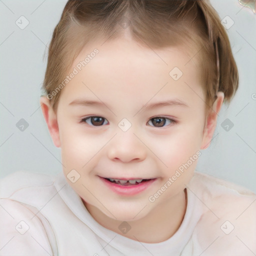
[[[39,97],[46,68],[43,54],[65,3],[0,0],[0,177],[17,170],[62,171],[60,149],[51,140]],[[238,0],[211,3],[221,19],[228,15],[234,21],[227,32],[240,83],[230,106],[222,106],[214,138],[201,150],[196,170],[256,192],[256,14]],[[29,21],[24,29],[15,24],[21,15]],[[23,131],[16,127],[21,118],[29,124]],[[228,131],[221,126],[226,118],[234,124]]]

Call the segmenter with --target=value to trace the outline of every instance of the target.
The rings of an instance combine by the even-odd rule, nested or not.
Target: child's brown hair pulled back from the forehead
[[[124,22],[132,38],[145,46],[182,44],[196,50],[205,103],[211,105],[217,91],[230,103],[238,71],[225,28],[208,0],[68,0],[49,45],[44,92],[51,94],[63,81],[88,41],[120,36]],[[54,111],[59,96],[50,99]]]

